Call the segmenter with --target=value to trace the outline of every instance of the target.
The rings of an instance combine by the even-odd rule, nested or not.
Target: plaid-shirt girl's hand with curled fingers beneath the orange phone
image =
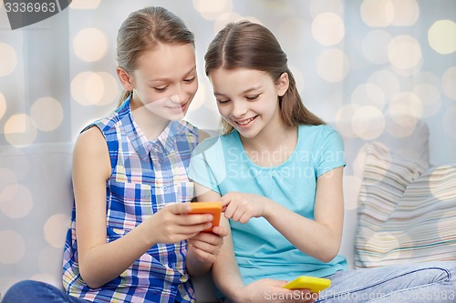
[[[213,227],[211,232],[202,232],[189,238],[189,254],[199,262],[212,264],[223,245],[223,237],[228,235],[226,227]]]

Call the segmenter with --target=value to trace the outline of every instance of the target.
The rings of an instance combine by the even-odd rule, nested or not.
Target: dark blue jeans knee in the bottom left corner
[[[87,303],[88,300],[69,296],[47,283],[38,281],[21,281],[6,291],[2,303]]]

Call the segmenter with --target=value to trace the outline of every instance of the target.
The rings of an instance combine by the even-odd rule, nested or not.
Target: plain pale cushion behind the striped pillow
[[[354,268],[358,196],[366,163],[366,146],[380,142],[404,157],[429,161],[429,128],[413,116],[342,117],[331,123],[344,139],[347,167],[344,169],[344,232],[339,254]]]

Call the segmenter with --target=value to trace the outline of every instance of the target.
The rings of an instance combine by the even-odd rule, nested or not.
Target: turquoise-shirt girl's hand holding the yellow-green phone
[[[311,294],[307,289],[286,289],[286,281],[264,278],[257,280],[238,292],[235,302],[242,303],[297,303],[315,302],[316,294]]]

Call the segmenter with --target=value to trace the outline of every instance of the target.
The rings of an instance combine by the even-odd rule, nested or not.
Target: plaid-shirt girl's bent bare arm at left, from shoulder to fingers
[[[99,288],[117,278],[156,243],[194,237],[210,221],[208,216],[181,216],[190,210],[190,204],[177,203],[107,243],[106,181],[111,167],[106,140],[97,127],[78,136],[72,173],[79,270],[90,288]]]

